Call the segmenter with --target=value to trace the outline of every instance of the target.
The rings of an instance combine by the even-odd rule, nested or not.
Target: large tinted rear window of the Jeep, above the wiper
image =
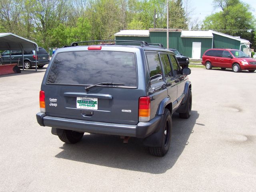
[[[56,55],[48,84],[93,85],[114,82],[137,86],[135,54],[118,51],[75,51]]]

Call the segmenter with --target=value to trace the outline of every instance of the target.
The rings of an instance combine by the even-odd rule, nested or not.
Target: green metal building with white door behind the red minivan
[[[116,34],[115,40],[138,40],[148,43],[160,43],[167,47],[166,29],[122,30]],[[169,29],[169,48],[177,49],[180,54],[193,59],[200,59],[210,48],[232,48],[250,55],[250,42],[220,32],[188,31]]]

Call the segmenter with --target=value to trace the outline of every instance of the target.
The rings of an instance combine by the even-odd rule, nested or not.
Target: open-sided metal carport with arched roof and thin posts
[[[24,70],[24,51],[35,50],[36,71],[37,71],[37,56],[38,45],[36,42],[20,37],[12,33],[0,33],[0,50],[10,51],[10,64],[12,64],[12,50],[22,51],[22,66]]]

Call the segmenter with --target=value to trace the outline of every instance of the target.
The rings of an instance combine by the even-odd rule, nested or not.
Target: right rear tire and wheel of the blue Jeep
[[[161,134],[161,146],[149,147],[149,152],[153,156],[164,156],[169,148],[171,142],[171,130],[172,130],[172,116],[168,109],[164,109],[164,118],[160,124]]]

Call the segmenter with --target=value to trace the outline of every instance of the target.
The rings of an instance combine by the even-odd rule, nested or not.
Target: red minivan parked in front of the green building
[[[202,64],[206,69],[220,67],[225,70],[230,68],[234,72],[241,70],[254,72],[256,70],[256,60],[236,49],[209,49],[203,54]]]

